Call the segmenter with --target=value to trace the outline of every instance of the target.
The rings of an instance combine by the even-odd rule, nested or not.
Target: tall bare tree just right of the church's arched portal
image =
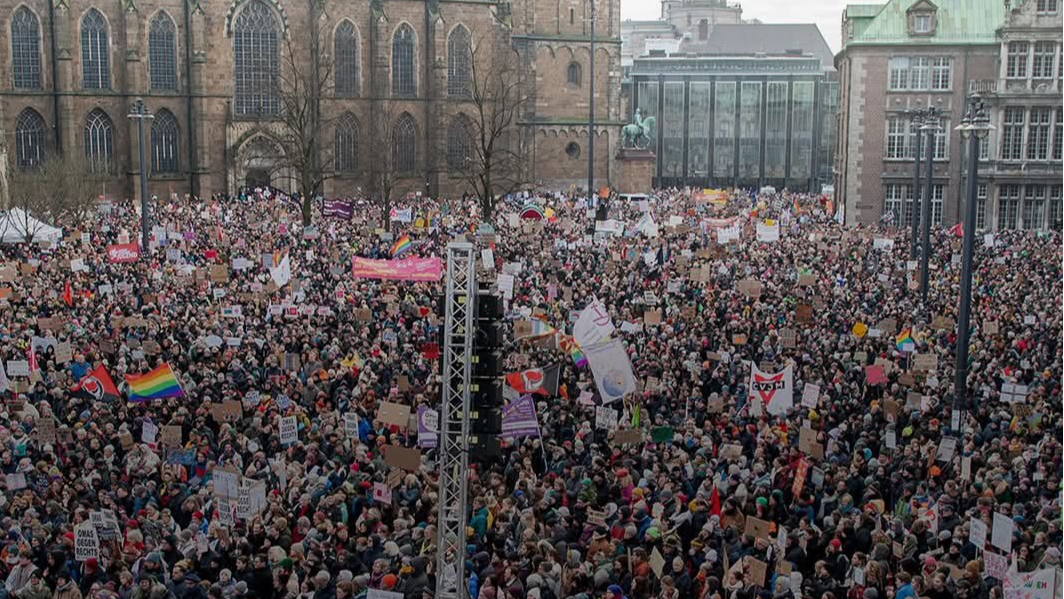
[[[319,3],[314,6],[321,10]],[[303,226],[311,223],[314,200],[333,171],[331,148],[321,144],[332,120],[321,114],[321,98],[332,93],[333,61],[321,43],[328,38],[327,22],[315,19],[317,29],[305,38],[306,49],[298,48],[292,35],[284,36],[276,89],[281,104],[275,135],[280,151],[277,167],[287,172],[302,196]]]

